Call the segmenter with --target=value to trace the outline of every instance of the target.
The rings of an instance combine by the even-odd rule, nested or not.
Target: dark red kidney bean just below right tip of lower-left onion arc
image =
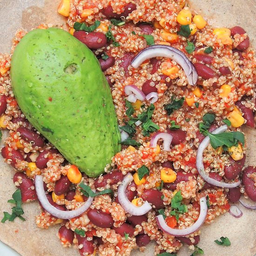
[[[102,212],[97,209],[90,209],[87,213],[89,220],[100,228],[110,228],[113,226],[114,221],[110,214]]]

